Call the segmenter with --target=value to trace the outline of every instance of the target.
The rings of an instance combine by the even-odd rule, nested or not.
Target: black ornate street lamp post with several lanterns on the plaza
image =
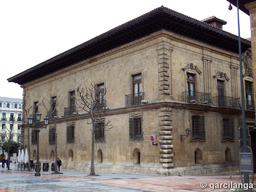
[[[36,134],[37,134],[37,155],[36,155],[36,173],[35,173],[35,176],[36,177],[39,177],[41,176],[41,173],[39,171],[39,132],[40,132],[40,129],[45,129],[48,125],[48,122],[49,122],[49,117],[45,117],[44,118],[44,125],[40,125],[40,118],[41,118],[41,113],[37,112],[35,114],[36,116],[36,125],[32,126],[32,123],[33,123],[33,119],[34,117],[33,116],[29,116],[28,117],[28,124],[30,125],[30,127],[34,130],[36,130]]]

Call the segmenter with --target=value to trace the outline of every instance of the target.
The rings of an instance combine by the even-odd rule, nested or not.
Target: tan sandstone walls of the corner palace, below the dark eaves
[[[125,95],[133,94],[132,77],[141,74],[142,92],[148,103],[125,107]],[[210,94],[204,103],[184,100],[187,75],[195,77],[195,91]],[[64,169],[89,171],[91,160],[90,121],[79,115],[64,116],[69,106],[69,92],[77,86],[104,83],[105,119],[114,128],[104,140],[95,142],[95,169],[107,172],[149,174],[213,174],[238,170],[238,127],[241,109],[219,107],[218,80],[225,95],[241,97],[239,58],[237,54],[161,30],[124,44],[70,67],[55,71],[22,85],[27,106],[57,98],[58,157]],[[253,82],[251,76],[244,80]],[[49,106],[50,107],[50,106]],[[34,113],[36,111],[33,111]],[[255,123],[254,111],[246,110],[247,121]],[[140,116],[142,137],[131,139],[129,118]],[[184,141],[185,129],[193,132],[192,116],[204,117],[205,135]],[[228,117],[227,117],[228,116]],[[223,139],[223,118],[234,120],[234,138]],[[54,162],[54,145],[49,144],[50,125],[40,132],[40,161]],[[75,140],[67,142],[67,127],[74,126]],[[25,133],[24,133],[25,134]],[[152,145],[150,136],[155,137]],[[26,140],[23,141],[26,145]],[[31,145],[31,159],[36,159],[36,145]],[[207,171],[206,171],[207,170]]]

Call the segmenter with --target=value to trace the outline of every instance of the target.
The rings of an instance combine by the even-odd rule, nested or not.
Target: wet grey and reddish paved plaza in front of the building
[[[0,167],[0,191],[4,192],[59,192],[59,191],[101,191],[101,192],[188,192],[188,191],[230,191],[235,183],[241,183],[240,175],[230,176],[157,176],[97,172],[100,176],[87,177],[89,172],[60,170],[63,174],[51,174],[41,170],[11,171]],[[200,187],[205,182],[206,188]],[[214,183],[215,185],[212,185]],[[221,186],[220,183],[226,183]],[[216,188],[216,184],[218,185]],[[254,186],[256,183],[254,183]],[[213,187],[215,186],[214,190]],[[226,187],[226,188],[225,188]]]

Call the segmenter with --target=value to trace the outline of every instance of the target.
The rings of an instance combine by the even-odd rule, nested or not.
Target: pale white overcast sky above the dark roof
[[[238,35],[237,8],[226,0],[12,0],[0,1],[1,97],[22,99],[6,79],[160,6],[197,20],[211,16]],[[250,18],[239,11],[240,36],[251,36]]]

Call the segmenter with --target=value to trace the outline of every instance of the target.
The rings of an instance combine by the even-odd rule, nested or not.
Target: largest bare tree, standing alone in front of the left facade
[[[88,118],[88,114],[91,118],[92,128],[92,154],[91,154],[91,172],[88,176],[97,176],[94,171],[94,135],[98,130],[109,131],[113,128],[113,125],[110,124],[110,121],[105,123],[105,120],[102,121],[102,117],[105,116],[107,110],[105,108],[98,108],[100,100],[105,97],[107,89],[103,88],[98,90],[96,84],[91,84],[90,88],[85,87],[81,88],[81,84],[76,88],[78,97],[76,97],[76,106],[77,114]],[[85,112],[85,113],[83,113]],[[99,126],[95,126],[96,123],[100,123]]]

